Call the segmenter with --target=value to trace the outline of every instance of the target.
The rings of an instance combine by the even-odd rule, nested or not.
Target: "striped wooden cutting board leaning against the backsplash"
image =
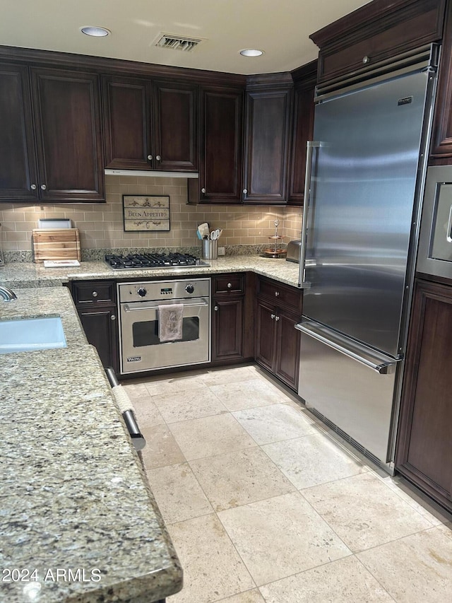
[[[44,262],[44,259],[81,260],[78,228],[35,228],[32,243],[35,262]]]

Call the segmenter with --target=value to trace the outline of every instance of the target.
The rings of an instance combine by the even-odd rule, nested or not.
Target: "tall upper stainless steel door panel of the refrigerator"
[[[303,312],[398,355],[427,74],[316,106]]]

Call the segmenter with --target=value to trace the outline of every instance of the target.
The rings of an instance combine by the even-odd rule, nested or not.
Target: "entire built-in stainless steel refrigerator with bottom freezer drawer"
[[[431,45],[318,87],[308,143],[298,393],[388,472],[437,55]]]

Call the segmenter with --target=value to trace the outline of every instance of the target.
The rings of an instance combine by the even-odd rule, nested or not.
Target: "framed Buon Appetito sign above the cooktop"
[[[168,232],[169,197],[167,195],[123,194],[126,232]]]

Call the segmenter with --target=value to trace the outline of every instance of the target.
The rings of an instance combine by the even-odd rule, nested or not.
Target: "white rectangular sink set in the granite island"
[[[59,316],[0,320],[0,354],[66,347]]]

